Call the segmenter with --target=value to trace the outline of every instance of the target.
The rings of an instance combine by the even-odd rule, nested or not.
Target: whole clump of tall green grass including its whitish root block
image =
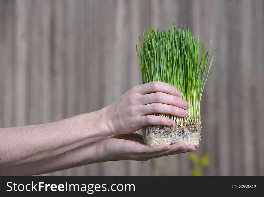
[[[164,28],[161,32],[159,28],[155,32],[150,25],[148,34],[143,32],[143,39],[142,48],[139,37],[140,51],[136,43],[142,82],[161,81],[171,84],[182,92],[181,97],[189,103],[186,109],[187,115],[184,118],[168,114],[152,114],[170,118],[174,120],[174,124],[143,127],[144,142],[151,147],[176,142],[199,146],[200,102],[214,58],[213,52],[208,66],[212,40],[204,56],[204,42],[201,40],[198,44],[199,36],[198,39],[192,37],[186,26],[177,30],[173,23],[171,30],[166,31]]]

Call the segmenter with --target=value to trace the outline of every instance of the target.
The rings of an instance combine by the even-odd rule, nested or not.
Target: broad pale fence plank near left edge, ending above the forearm
[[[32,1],[15,1],[16,12],[16,110],[15,125],[29,124],[28,121],[28,55],[29,55],[29,20]]]

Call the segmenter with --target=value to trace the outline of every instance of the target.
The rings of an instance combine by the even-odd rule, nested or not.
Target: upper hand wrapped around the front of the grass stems
[[[133,133],[149,124],[172,125],[174,121],[169,118],[148,114],[184,117],[188,103],[180,96],[177,88],[164,82],[137,85],[103,108],[101,117],[108,125],[110,135]]]

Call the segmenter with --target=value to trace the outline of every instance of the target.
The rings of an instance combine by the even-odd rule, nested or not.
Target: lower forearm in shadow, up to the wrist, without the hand
[[[106,157],[98,152],[98,142],[92,142],[88,145],[73,149],[66,153],[50,157],[49,159],[26,164],[24,166],[16,166],[0,169],[2,176],[25,176],[39,175],[58,170],[73,168],[90,163],[98,163],[105,161]]]

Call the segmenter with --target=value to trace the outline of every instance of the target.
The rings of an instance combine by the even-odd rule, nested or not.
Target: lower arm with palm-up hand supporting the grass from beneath
[[[150,148],[148,145],[144,145],[142,135],[130,133],[107,138],[101,142],[92,142],[38,162],[3,168],[0,169],[0,175],[38,175],[91,163],[116,160],[147,161],[152,158],[194,150],[193,145],[184,143],[162,144]]]

